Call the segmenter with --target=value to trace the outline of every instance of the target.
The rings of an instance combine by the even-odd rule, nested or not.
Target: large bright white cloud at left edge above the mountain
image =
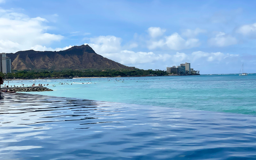
[[[11,10],[0,12],[0,48],[2,52],[29,50],[37,45],[51,44],[64,37],[47,33],[47,20],[41,17],[30,18]]]

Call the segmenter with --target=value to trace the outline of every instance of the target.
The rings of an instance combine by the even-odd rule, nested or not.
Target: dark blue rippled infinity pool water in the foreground
[[[255,116],[6,93],[3,159],[253,159]]]

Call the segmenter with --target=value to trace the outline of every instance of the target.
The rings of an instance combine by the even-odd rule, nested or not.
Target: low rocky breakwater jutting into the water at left
[[[15,92],[43,92],[43,91],[53,91],[49,88],[43,86],[33,86],[33,87],[4,87],[1,90],[15,91]]]

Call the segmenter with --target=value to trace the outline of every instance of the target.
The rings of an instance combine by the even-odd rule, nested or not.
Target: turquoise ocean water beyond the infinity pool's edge
[[[33,83],[54,91],[31,94],[256,115],[256,74],[9,81]]]

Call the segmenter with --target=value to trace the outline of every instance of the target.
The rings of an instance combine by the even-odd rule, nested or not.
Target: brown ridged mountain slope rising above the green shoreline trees
[[[19,51],[6,56],[11,58],[14,70],[135,69],[102,57],[89,45],[73,46],[59,52]]]

